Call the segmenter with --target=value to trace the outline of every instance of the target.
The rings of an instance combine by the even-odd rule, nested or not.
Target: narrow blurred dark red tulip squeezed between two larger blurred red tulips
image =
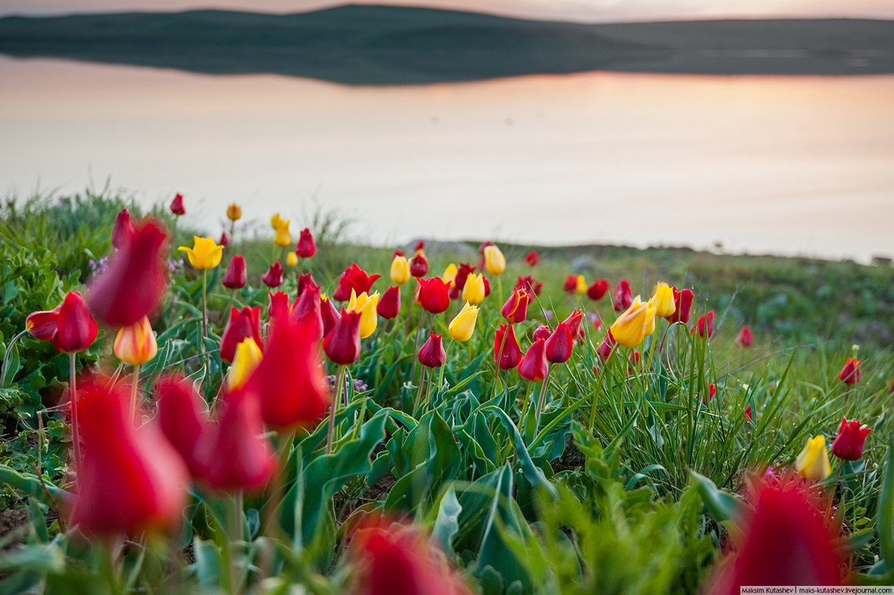
[[[183,459],[190,474],[200,476],[201,465],[196,457],[196,447],[207,422],[205,402],[192,381],[183,378],[180,373],[159,378],[155,392],[158,395],[156,417],[164,438]]]

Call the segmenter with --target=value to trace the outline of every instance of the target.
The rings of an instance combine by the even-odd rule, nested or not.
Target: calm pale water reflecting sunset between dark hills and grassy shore
[[[0,57],[0,192],[111,178],[222,227],[314,205],[375,242],[894,255],[894,77],[589,73],[412,88]]]

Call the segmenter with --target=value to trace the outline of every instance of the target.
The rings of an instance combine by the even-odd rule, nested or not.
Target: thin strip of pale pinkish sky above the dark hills
[[[0,0],[0,15],[176,11],[221,8],[294,13],[337,0]],[[567,21],[651,21],[715,17],[862,17],[894,19],[892,0],[356,0],[412,4]]]

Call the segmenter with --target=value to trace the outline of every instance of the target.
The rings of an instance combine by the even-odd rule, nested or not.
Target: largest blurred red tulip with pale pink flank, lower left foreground
[[[72,523],[88,534],[173,530],[186,506],[186,466],[155,423],[133,427],[129,390],[95,378],[78,391],[83,457]]]

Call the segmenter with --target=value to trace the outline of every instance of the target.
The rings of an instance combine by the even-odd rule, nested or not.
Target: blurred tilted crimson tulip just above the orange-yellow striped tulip
[[[147,221],[125,240],[90,284],[87,305],[108,326],[130,326],[156,311],[167,294],[164,231]]]

